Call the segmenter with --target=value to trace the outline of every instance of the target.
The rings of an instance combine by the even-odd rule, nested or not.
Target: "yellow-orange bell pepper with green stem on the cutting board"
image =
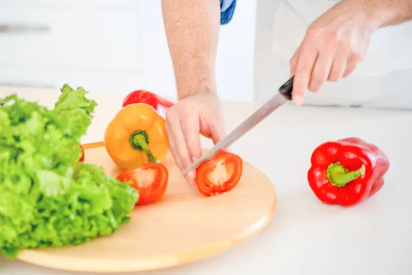
[[[169,151],[165,120],[148,104],[130,104],[108,124],[104,146],[123,170],[161,162]]]

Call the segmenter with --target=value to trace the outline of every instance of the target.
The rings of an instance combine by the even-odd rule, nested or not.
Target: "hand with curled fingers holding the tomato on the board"
[[[218,96],[200,92],[174,104],[166,112],[166,131],[170,152],[183,171],[202,155],[200,134],[211,138],[214,144],[225,137]],[[195,185],[195,178],[196,170],[185,175],[191,186]]]

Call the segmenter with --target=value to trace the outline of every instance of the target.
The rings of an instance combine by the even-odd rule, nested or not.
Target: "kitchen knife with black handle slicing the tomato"
[[[194,161],[192,165],[183,170],[182,174],[185,175],[189,173],[191,170],[197,168],[198,166],[201,166],[203,163],[213,158],[220,151],[225,150],[233,142],[242,137],[242,135],[247,133],[254,126],[258,125],[262,120],[264,120],[264,118],[273,113],[273,111],[275,111],[278,107],[282,106],[288,100],[292,100],[293,78],[294,77],[292,76],[292,78],[286,81],[286,83],[284,83],[284,85],[279,88],[279,93],[268,100],[268,102],[260,107],[258,111],[255,111],[255,113],[249,116],[247,120],[244,120],[242,124],[231,131],[229,135],[220,140],[220,142],[218,142],[214,147],[212,147],[201,157],[196,159],[196,161]]]

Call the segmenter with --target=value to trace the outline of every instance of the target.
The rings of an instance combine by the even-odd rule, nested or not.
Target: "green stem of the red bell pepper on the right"
[[[361,177],[361,175],[365,174],[365,170],[365,165],[363,164],[358,170],[349,172],[342,164],[332,163],[329,164],[326,175],[328,175],[328,179],[333,186],[342,187],[350,183],[350,181]]]

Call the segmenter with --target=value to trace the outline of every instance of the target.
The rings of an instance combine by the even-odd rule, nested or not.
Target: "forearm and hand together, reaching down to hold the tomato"
[[[179,98],[166,113],[170,151],[180,170],[202,155],[200,135],[224,135],[215,81],[220,1],[162,0],[163,21]],[[195,172],[186,175],[194,185]]]

